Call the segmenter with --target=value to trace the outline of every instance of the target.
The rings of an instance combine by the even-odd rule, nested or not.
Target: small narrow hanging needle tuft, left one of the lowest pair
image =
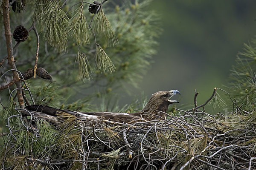
[[[78,68],[79,68],[79,79],[82,79],[85,81],[86,79],[90,80],[90,73],[89,71],[93,71],[91,68],[89,61],[84,53],[81,51],[78,51],[76,55],[76,62],[78,62]]]

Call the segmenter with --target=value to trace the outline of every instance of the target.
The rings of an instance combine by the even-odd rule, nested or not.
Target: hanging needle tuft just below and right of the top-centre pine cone
[[[108,21],[108,18],[104,14],[103,10],[99,11],[99,14],[96,17],[94,22],[94,30],[99,34],[103,34],[105,37],[106,45],[108,45],[109,40],[111,39],[113,46],[118,42],[116,35],[111,27],[111,24]]]

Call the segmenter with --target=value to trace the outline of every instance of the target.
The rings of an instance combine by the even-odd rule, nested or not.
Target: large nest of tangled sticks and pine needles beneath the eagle
[[[226,115],[212,116],[199,109],[176,110],[177,116],[166,120],[106,120],[93,126],[63,113],[59,116],[64,121],[58,127],[33,115],[23,119],[16,110],[16,115],[7,118],[10,132],[1,166],[47,170],[256,169],[255,111],[237,107]]]

